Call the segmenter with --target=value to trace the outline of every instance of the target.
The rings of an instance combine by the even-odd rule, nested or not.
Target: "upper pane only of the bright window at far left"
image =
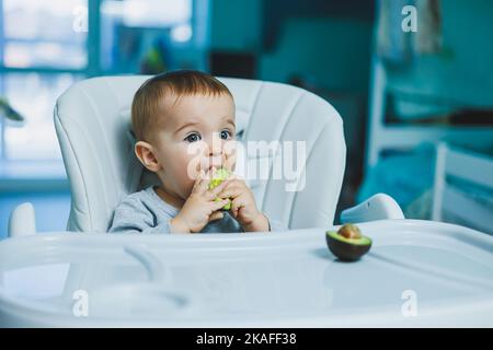
[[[87,0],[3,0],[3,66],[82,69],[87,32],[78,27]]]

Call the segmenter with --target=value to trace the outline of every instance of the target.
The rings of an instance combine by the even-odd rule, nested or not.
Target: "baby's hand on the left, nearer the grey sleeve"
[[[210,172],[208,175],[210,175]],[[200,232],[210,221],[222,219],[223,213],[219,209],[226,206],[229,200],[215,201],[215,199],[228,182],[223,182],[214,189],[208,189],[209,180],[210,176],[206,176],[202,171],[195,179],[188,199],[177,215],[170,221],[171,232]]]

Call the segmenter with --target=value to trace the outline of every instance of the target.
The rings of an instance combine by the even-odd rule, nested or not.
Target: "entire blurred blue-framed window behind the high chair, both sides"
[[[60,161],[53,109],[78,80],[203,69],[169,52],[197,57],[207,13],[208,0],[0,0],[0,97],[25,119],[0,118],[0,162]]]

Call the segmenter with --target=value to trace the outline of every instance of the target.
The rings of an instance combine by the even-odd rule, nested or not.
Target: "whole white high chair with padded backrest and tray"
[[[68,229],[85,232],[0,242],[0,327],[493,325],[490,235],[381,220],[358,225],[372,240],[358,262],[331,254],[325,231],[334,230],[344,172],[342,120],[294,86],[222,79],[243,140],[307,142],[302,190],[271,178],[250,184],[267,215],[299,230],[268,237],[92,234],[106,231],[123,196],[152,180],[127,137],[133,94],[146,78],[90,79],[58,100],[55,125],[72,191]],[[402,218],[386,195],[342,214],[343,222]],[[11,236],[35,232],[31,205],[14,210],[10,229]]]

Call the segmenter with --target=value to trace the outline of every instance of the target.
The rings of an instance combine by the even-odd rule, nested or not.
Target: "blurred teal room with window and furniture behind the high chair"
[[[403,30],[406,5],[417,32]],[[65,230],[53,110],[66,89],[173,69],[331,103],[347,144],[339,211],[387,192],[406,218],[491,233],[492,179],[474,174],[493,156],[492,33],[491,0],[0,0],[0,238],[25,201],[38,231]],[[450,175],[454,160],[470,174]]]

